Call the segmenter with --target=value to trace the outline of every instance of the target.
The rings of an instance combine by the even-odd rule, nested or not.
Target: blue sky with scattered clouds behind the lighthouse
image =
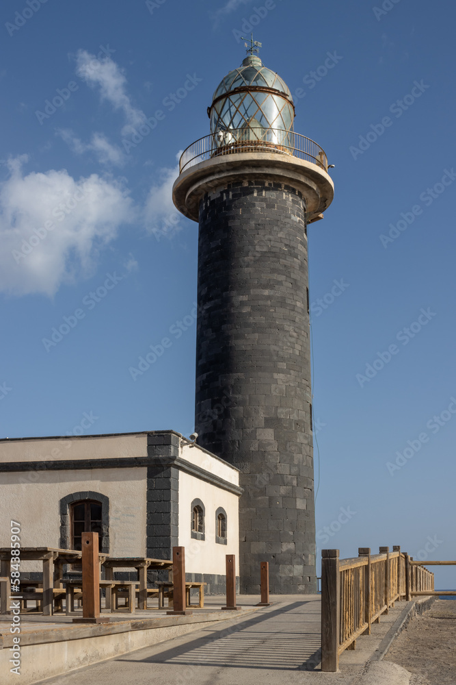
[[[87,415],[90,433],[192,432],[197,225],[170,191],[253,27],[295,95],[295,131],[336,165],[334,202],[309,229],[317,545],[454,558],[453,6],[4,0],[0,12],[1,436],[78,432]],[[133,379],[163,337],[172,345]]]

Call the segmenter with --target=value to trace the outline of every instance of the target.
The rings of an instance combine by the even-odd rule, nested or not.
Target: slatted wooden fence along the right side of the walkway
[[[337,671],[339,656],[355,649],[356,638],[371,633],[395,601],[433,594],[434,574],[396,546],[390,552],[368,547],[339,559],[338,549],[321,552],[321,670]],[[438,593],[435,593],[438,594]]]

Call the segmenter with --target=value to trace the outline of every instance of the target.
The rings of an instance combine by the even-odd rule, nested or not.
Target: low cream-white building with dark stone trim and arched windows
[[[225,556],[239,557],[239,471],[180,434],[7,438],[0,474],[0,547],[11,519],[22,547],[81,549],[87,530],[114,557],[170,559],[183,545],[187,580],[224,593]]]

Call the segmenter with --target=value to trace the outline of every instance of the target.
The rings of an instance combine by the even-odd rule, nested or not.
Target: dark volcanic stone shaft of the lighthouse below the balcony
[[[196,431],[241,470],[241,592],[316,591],[305,203],[258,179],[200,203]]]

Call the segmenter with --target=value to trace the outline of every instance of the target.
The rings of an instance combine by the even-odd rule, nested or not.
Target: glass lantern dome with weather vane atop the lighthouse
[[[247,57],[230,71],[213,95],[208,114],[217,146],[238,142],[289,147],[295,108],[289,87],[258,57],[260,43],[251,39]],[[247,43],[245,44],[247,47]],[[250,147],[250,146],[249,146]]]

